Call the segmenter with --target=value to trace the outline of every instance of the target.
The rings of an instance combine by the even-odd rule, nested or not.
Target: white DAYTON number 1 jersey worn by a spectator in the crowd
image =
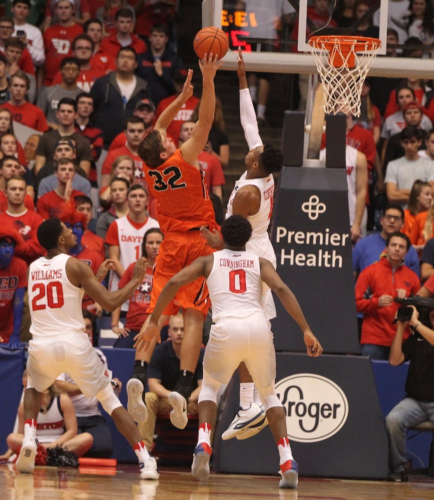
[[[154,227],[160,227],[157,220],[152,217],[147,217],[146,221],[139,228],[135,227],[124,215],[114,221],[117,226],[117,235],[119,241],[119,260],[123,268],[126,269],[131,263],[136,262],[141,256],[142,240],[145,232]],[[108,290],[113,291],[118,289],[119,276],[114,272],[110,272],[110,280]],[[128,300],[122,304],[123,311],[128,310]]]

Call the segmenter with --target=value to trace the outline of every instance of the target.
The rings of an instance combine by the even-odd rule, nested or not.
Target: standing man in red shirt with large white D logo
[[[72,55],[72,41],[83,32],[75,22],[74,0],[56,0],[55,11],[58,23],[47,28],[43,34],[45,45],[45,64],[43,85],[51,85],[64,57]]]

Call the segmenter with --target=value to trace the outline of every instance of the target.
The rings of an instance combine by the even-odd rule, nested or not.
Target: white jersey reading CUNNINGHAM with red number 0
[[[262,312],[262,279],[259,257],[250,251],[229,249],[213,253],[214,264],[206,279],[212,319],[250,317]]]

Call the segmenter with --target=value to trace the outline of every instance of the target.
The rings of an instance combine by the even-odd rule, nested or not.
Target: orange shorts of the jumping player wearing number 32
[[[209,255],[214,250],[206,244],[199,230],[173,231],[164,235],[155,259],[152,279],[151,303],[146,312],[152,312],[161,290],[167,281],[197,257]],[[203,312],[210,307],[208,287],[204,277],[181,286],[163,314],[176,314],[180,307]]]

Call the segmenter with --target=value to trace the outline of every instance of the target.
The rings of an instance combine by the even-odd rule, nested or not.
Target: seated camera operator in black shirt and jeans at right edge
[[[397,321],[397,332],[389,354],[389,362],[394,366],[410,361],[406,397],[386,417],[389,479],[397,482],[408,480],[405,471],[407,430],[426,420],[434,423],[434,330],[419,320],[415,306],[410,307],[413,308],[410,321]],[[430,312],[430,320],[434,326],[434,310]],[[403,343],[407,325],[411,326],[413,333]]]

